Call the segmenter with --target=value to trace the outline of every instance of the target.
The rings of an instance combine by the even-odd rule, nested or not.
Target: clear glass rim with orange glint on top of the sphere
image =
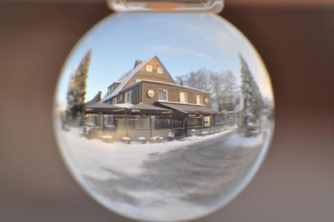
[[[106,0],[121,13],[220,13],[224,0]]]

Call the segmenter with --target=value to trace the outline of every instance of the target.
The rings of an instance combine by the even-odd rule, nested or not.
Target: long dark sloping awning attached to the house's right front
[[[175,111],[179,111],[180,113],[184,113],[186,115],[212,115],[216,114],[217,112],[213,111],[207,106],[200,106],[200,105],[192,105],[192,104],[176,104],[176,103],[169,103],[169,102],[156,102],[157,106],[163,106],[168,109],[173,109]]]

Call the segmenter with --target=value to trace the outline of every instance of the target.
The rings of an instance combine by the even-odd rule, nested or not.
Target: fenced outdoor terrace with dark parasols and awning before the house
[[[159,105],[159,104],[157,104]],[[202,106],[95,103],[86,106],[84,135],[112,143],[161,143],[213,132],[217,113]]]

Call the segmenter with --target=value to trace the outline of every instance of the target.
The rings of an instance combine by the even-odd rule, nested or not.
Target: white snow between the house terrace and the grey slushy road
[[[118,175],[111,173],[125,173],[139,175],[143,169],[141,164],[150,158],[150,154],[161,154],[170,150],[186,148],[198,141],[211,140],[230,134],[234,129],[207,136],[191,136],[184,141],[165,141],[163,143],[130,143],[120,141],[106,143],[100,139],[82,136],[82,129],[71,128],[69,132],[58,130],[62,153],[74,174],[86,175],[95,179],[118,179]]]

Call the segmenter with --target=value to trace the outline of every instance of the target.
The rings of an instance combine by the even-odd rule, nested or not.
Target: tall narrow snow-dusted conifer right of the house
[[[241,63],[241,96],[244,109],[240,113],[239,129],[245,136],[260,133],[263,108],[262,95],[245,59],[239,56]]]

